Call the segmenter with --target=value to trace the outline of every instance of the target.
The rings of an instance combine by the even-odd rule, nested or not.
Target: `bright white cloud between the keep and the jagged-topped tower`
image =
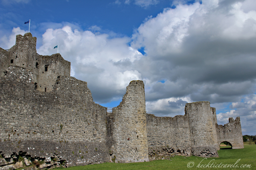
[[[121,97],[131,80],[142,79],[130,66],[143,55],[127,45],[128,37],[72,30],[70,26],[49,28],[42,37],[38,54],[54,54],[53,47],[58,45],[59,53],[71,62],[73,76],[88,82],[96,102]]]

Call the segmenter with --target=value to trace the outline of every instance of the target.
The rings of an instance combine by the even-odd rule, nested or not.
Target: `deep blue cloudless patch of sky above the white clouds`
[[[41,23],[68,22],[84,30],[99,26],[104,31],[127,36],[131,36],[148,16],[155,17],[163,8],[172,7],[170,0],[145,7],[135,5],[134,1],[125,4],[114,0],[2,0],[2,4],[1,19],[15,22],[9,24],[9,28],[5,26],[8,31],[12,31],[14,26],[27,29],[23,20],[31,19],[31,31],[35,29],[42,33],[45,27],[38,28]]]

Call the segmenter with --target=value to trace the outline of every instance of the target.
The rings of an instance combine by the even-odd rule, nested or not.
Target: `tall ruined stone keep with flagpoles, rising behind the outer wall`
[[[0,50],[5,53],[5,50]],[[70,62],[61,54],[42,56],[36,52],[36,37],[31,33],[16,36],[16,44],[6,51],[8,57],[1,58],[1,73],[9,65],[25,68],[33,73],[35,88],[39,91],[52,91],[58,76],[70,77]]]

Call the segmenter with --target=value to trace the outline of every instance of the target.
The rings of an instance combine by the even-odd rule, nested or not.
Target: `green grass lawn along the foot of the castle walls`
[[[170,158],[171,160],[157,160],[129,164],[104,163],[79,167],[69,167],[66,170],[256,170],[256,145],[245,145],[244,149],[219,150],[218,154],[219,158],[205,159],[196,156],[174,156]],[[239,159],[240,161],[238,161]],[[211,163],[209,165],[235,164],[238,161],[236,165],[238,165],[239,167],[197,167],[199,164],[205,165],[208,164],[210,161]],[[194,162],[194,166],[188,168],[187,165],[189,162]],[[250,165],[250,168],[240,167],[244,164]],[[190,165],[192,165],[192,163]]]

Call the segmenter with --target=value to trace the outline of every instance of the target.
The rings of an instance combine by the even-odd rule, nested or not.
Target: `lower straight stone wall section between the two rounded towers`
[[[147,114],[148,154],[157,156],[190,156],[190,134],[187,116],[157,117]]]

